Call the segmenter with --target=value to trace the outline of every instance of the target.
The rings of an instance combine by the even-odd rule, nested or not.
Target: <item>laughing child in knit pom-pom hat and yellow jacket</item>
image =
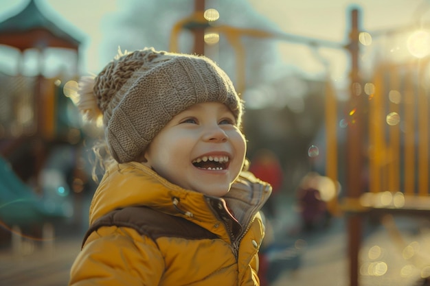
[[[271,187],[242,170],[243,106],[227,75],[203,56],[143,49],[79,94],[115,160],[69,285],[258,285]]]

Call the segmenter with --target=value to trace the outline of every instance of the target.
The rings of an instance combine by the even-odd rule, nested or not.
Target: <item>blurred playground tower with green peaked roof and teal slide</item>
[[[38,240],[50,233],[52,241],[52,224],[72,217],[67,175],[76,169],[76,158],[56,150],[77,149],[80,142],[80,131],[69,120],[73,104],[63,93],[67,77],[76,77],[80,40],[50,21],[39,3],[28,1],[0,23],[0,45],[16,55],[16,73],[0,73],[0,242],[12,239],[19,249],[25,236]],[[45,55],[52,49],[76,55],[73,75],[45,76]],[[25,74],[29,55],[38,62],[34,75]]]

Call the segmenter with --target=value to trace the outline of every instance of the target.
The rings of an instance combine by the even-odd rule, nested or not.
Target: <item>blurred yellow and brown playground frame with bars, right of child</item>
[[[245,47],[242,36],[281,39],[308,45],[346,49],[350,54],[350,96],[345,115],[339,118],[335,90],[326,82],[325,130],[326,176],[337,182],[338,167],[345,168],[344,196],[334,196],[328,207],[334,215],[345,215],[348,222],[350,286],[359,285],[359,250],[363,222],[374,215],[429,215],[429,60],[428,32],[411,33],[407,45],[416,58],[402,63],[376,60],[370,73],[363,73],[361,51],[377,33],[361,27],[361,10],[348,11],[350,25],[346,44],[258,29],[238,29],[212,25],[205,18],[204,1],[196,1],[195,14],[177,23],[171,34],[171,49],[177,49],[177,34],[190,29],[195,51],[204,53],[205,30],[224,34],[235,48],[238,63],[238,89],[244,84]],[[386,31],[386,34],[414,32],[416,26]],[[424,34],[424,36],[422,36]],[[420,37],[424,40],[420,41]],[[426,38],[427,36],[427,38]],[[415,37],[415,38],[414,38]],[[422,52],[422,51],[427,51]],[[329,78],[329,77],[328,77]],[[344,154],[337,144],[340,128],[346,128]],[[393,227],[393,225],[392,225]],[[424,275],[424,274],[423,274]]]

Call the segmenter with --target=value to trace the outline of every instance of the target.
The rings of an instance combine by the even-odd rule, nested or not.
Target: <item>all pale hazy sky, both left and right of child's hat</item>
[[[28,0],[0,0],[0,22],[18,12]],[[100,45],[106,34],[106,22],[115,12],[127,5],[127,0],[37,0],[43,2],[62,27],[75,30],[84,39],[80,51],[84,71],[97,73],[106,62]],[[178,0],[184,1],[184,0]],[[207,0],[206,3],[216,0]],[[184,1],[185,2],[185,1]],[[306,36],[315,40],[328,40],[346,44],[349,12],[352,7],[360,10],[361,29],[368,32],[419,27],[430,23],[429,0],[249,0],[252,7],[286,34]],[[428,20],[428,21],[427,21]],[[376,39],[374,39],[376,40]],[[304,73],[321,73],[328,69],[334,80],[347,76],[348,53],[345,50],[321,47],[309,49],[304,45],[286,41],[278,42],[281,60],[299,67]],[[389,43],[382,53],[400,53],[404,43]],[[394,56],[396,56],[394,54]],[[318,60],[319,58],[319,60]],[[323,64],[325,62],[325,64]]]

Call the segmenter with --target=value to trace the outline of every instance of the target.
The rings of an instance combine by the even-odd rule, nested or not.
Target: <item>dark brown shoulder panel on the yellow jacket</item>
[[[140,235],[156,241],[159,237],[180,237],[183,239],[216,239],[217,235],[193,222],[155,211],[146,206],[128,206],[107,213],[97,219],[84,235],[82,246],[94,231],[102,226],[133,228]]]

